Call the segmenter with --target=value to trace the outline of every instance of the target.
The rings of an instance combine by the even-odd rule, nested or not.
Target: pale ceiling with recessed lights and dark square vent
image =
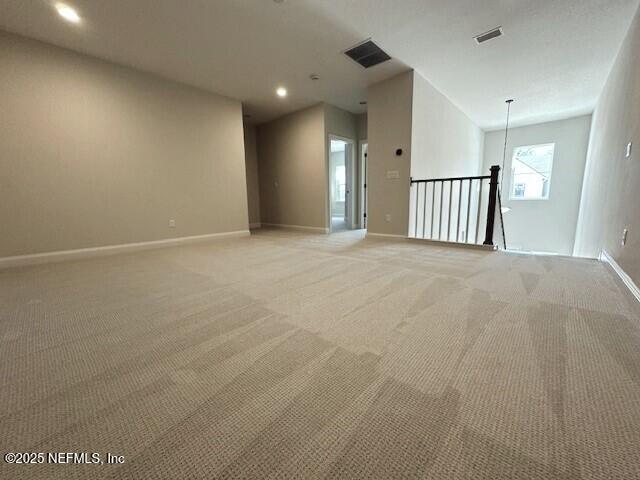
[[[0,28],[242,100],[262,122],[318,101],[362,112],[416,69],[484,129],[590,112],[638,0],[0,0]],[[502,26],[482,45],[473,36]],[[367,38],[394,60],[342,52]],[[309,76],[317,74],[319,80]],[[284,99],[276,87],[288,89]]]

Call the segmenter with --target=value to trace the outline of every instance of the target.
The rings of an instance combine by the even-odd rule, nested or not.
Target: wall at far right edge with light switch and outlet
[[[593,114],[574,254],[606,250],[640,284],[640,10]],[[625,158],[628,142],[631,158]],[[621,245],[622,230],[629,229]]]

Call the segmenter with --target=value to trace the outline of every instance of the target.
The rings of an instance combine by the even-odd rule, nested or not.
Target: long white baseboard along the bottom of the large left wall
[[[62,262],[65,260],[77,260],[80,258],[102,257],[117,253],[136,252],[154,248],[173,247],[189,243],[206,242],[208,240],[220,240],[231,237],[244,237],[250,235],[249,230],[235,232],[209,233],[206,235],[194,235],[191,237],[166,238],[151,242],[125,243],[120,245],[107,245],[104,247],[79,248],[76,250],[60,250],[57,252],[35,253],[32,255],[17,255],[14,257],[0,258],[0,269],[9,267],[22,267],[26,265],[39,265],[42,263]]]

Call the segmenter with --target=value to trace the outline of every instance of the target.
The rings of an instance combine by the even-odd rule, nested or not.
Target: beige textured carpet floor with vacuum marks
[[[263,231],[0,271],[7,479],[637,479],[608,267]]]

